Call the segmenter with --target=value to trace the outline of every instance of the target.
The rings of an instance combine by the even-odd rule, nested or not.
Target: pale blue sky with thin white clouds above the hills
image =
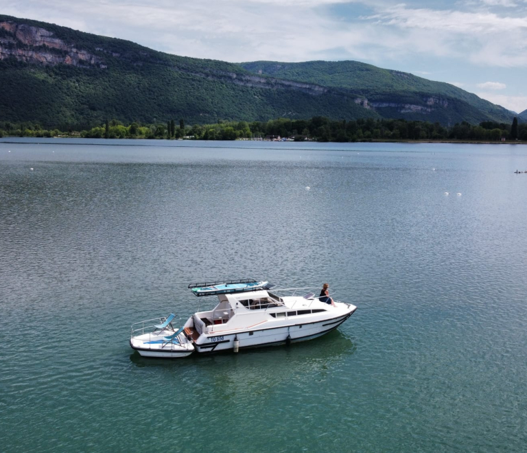
[[[527,0],[0,0],[0,13],[195,58],[357,60],[527,109]]]

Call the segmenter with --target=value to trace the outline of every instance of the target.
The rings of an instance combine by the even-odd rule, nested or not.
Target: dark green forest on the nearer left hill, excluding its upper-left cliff
[[[2,60],[0,119],[61,128],[72,125],[82,130],[99,125],[106,117],[127,123],[180,117],[189,124],[219,119],[261,121],[279,115],[377,117],[341,94],[317,96],[272,84],[236,84],[235,76],[249,77],[250,73],[232,63],[172,56],[125,40],[36,21],[0,19],[44,27],[75,48],[92,52],[106,66],[50,67],[14,58]]]

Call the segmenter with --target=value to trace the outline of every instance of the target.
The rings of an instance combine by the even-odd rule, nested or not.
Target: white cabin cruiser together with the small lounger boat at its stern
[[[311,340],[336,329],[357,310],[351,303],[321,301],[314,293],[320,288],[280,290],[267,281],[192,283],[189,288],[197,297],[217,296],[218,304],[194,313],[177,330],[174,314],[132,325],[130,346],[141,356],[178,358],[193,351],[237,352]]]

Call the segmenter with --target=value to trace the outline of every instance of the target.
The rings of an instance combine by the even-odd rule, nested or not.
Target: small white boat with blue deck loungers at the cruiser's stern
[[[166,318],[154,318],[132,324],[130,346],[141,356],[180,358],[194,352],[192,341],[183,333],[184,327],[175,329],[170,314]]]

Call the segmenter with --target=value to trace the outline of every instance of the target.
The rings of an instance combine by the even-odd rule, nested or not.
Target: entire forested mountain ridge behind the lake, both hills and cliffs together
[[[448,125],[513,117],[454,86],[362,63],[237,65],[2,15],[0,86],[0,126],[10,121],[86,129],[108,118],[210,124],[315,116]]]

